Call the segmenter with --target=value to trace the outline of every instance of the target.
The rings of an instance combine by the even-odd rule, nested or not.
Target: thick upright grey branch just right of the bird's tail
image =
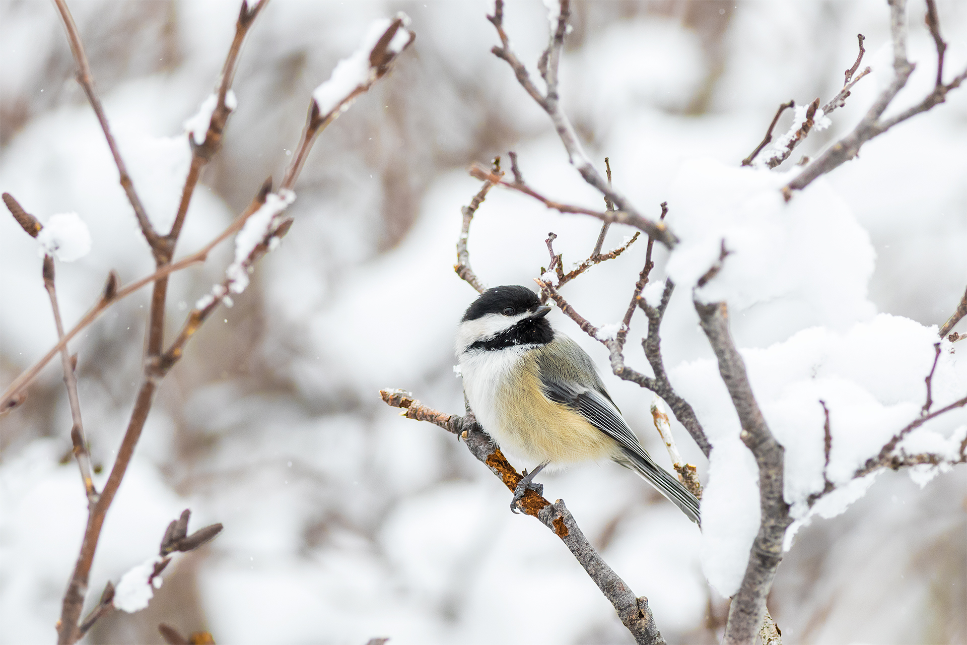
[[[739,415],[739,436],[755,456],[759,467],[761,523],[752,543],[746,573],[729,607],[722,641],[728,645],[751,643],[762,625],[766,598],[782,561],[782,540],[792,523],[789,505],[782,495],[784,449],[766,425],[748,382],[746,364],[729,334],[728,310],[723,303],[705,305],[695,301],[699,322],[718,359],[718,372]]]

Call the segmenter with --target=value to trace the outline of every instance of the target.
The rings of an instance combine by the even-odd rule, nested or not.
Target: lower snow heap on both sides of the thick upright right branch
[[[873,483],[873,477],[853,478],[866,459],[920,416],[923,376],[932,364],[936,341],[935,327],[879,314],[844,333],[812,328],[767,348],[742,350],[763,415],[785,448],[784,497],[799,520],[789,529],[787,547],[811,516],[843,513]],[[944,341],[934,372],[934,410],[967,391],[967,360],[952,353],[951,347]],[[703,360],[679,366],[672,380],[682,384],[681,394],[689,400],[698,393],[706,398],[706,409],[699,414],[713,451],[702,499],[702,566],[718,592],[728,596],[742,580],[758,528],[758,470],[739,438],[738,420],[718,378],[718,365]],[[809,495],[824,486],[825,418],[820,400],[830,410],[832,435],[826,477],[837,488],[810,509]],[[965,424],[967,411],[952,411],[915,429],[899,448],[908,454],[953,458],[967,433]],[[922,483],[926,471],[919,468],[911,477]]]

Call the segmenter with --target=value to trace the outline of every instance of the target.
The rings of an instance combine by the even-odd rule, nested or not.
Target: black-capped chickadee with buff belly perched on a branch
[[[698,500],[638,443],[608,396],[591,357],[555,331],[550,311],[524,286],[487,289],[456,330],[463,391],[502,450],[540,463],[514,491],[511,508],[548,464],[611,459],[655,486],[700,524]]]

